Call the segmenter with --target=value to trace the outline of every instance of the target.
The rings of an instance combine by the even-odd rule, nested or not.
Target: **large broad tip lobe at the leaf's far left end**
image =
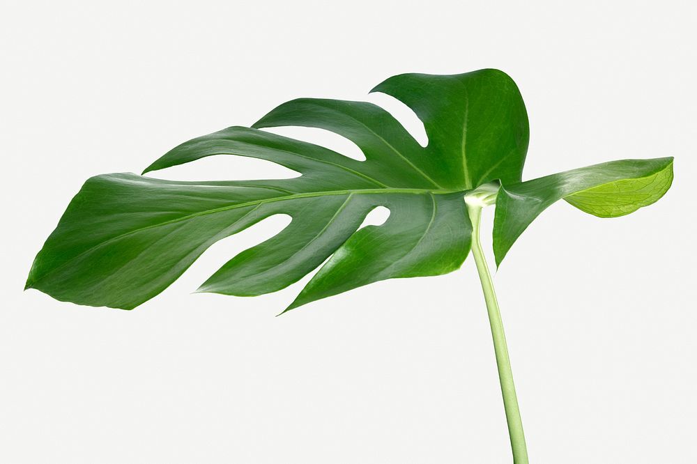
[[[286,196],[243,183],[184,183],[136,174],[87,180],[34,259],[26,288],[57,300],[132,309],[206,248],[266,217]],[[266,212],[266,215],[270,214]]]

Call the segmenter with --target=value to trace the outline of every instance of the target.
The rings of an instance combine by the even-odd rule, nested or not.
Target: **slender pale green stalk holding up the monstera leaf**
[[[489,265],[484,258],[484,250],[480,242],[480,222],[482,218],[482,205],[477,203],[466,203],[467,211],[472,222],[472,254],[477,265],[484,300],[487,302],[489,312],[489,324],[491,325],[491,336],[493,337],[493,350],[496,353],[496,365],[498,366],[498,378],[501,382],[501,392],[503,394],[503,406],[506,410],[506,422],[508,423],[508,434],[511,438],[511,449],[513,451],[514,464],[528,464],[528,449],[526,447],[525,435],[523,434],[523,422],[518,407],[518,397],[516,387],[513,384],[513,373],[511,362],[508,357],[508,346],[506,336],[503,332],[503,321],[498,309],[498,300],[493,288]]]

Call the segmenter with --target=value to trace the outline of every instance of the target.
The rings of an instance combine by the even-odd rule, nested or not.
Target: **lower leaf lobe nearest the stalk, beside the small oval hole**
[[[381,202],[390,209],[385,224],[351,235],[286,311],[376,281],[460,268],[472,233],[461,194],[395,195],[387,200]]]

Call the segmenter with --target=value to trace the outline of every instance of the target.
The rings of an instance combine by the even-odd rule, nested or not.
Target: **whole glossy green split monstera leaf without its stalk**
[[[657,201],[671,158],[623,160],[521,182],[528,118],[516,84],[498,70],[406,74],[374,88],[411,107],[426,148],[366,102],[300,99],[251,128],[230,127],[174,148],[144,173],[212,155],[261,158],[298,171],[284,180],[174,182],[133,173],[96,176],[70,202],[32,265],[27,288],[58,300],[132,309],[167,288],[217,240],[279,213],[291,223],[217,270],[199,291],[261,295],[298,281],[327,258],[288,309],[374,281],[445,274],[470,252],[463,196],[497,182],[498,263],[558,199],[600,217]],[[336,132],[365,153],[353,160],[264,127]],[[377,206],[381,226],[360,228]]]

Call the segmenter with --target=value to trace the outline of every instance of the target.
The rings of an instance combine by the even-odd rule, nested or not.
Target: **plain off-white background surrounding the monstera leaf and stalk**
[[[531,462],[697,462],[691,3],[3,0],[0,462],[510,462],[471,260],[279,318],[307,278],[257,298],[190,293],[285,223],[272,218],[135,311],[22,292],[89,176],[139,172],[301,96],[385,103],[416,131],[367,91],[490,67],[526,100],[524,178],[675,156],[654,206],[597,219],[560,202],[496,275]],[[286,175],[220,158],[158,176]]]

